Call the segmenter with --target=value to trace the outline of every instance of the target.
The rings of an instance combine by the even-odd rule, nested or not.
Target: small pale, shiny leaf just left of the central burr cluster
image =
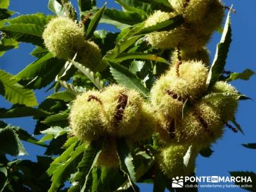
[[[69,127],[65,127],[65,128],[61,128],[58,126],[50,127],[49,129],[41,131],[42,134],[46,134],[46,135],[40,140],[40,142],[52,140],[53,138],[56,139],[59,136],[65,134],[65,133],[68,133],[68,132],[70,132]]]

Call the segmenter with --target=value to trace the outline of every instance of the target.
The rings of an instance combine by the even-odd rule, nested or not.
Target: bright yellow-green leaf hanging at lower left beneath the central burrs
[[[56,158],[47,170],[47,173],[52,174],[52,184],[49,192],[56,192],[58,190],[61,184],[63,184],[71,174],[68,167],[84,152],[84,144],[76,148],[75,145],[76,143],[71,145],[60,157]],[[57,164],[57,162],[59,163]],[[52,170],[52,168],[54,168],[54,170]]]

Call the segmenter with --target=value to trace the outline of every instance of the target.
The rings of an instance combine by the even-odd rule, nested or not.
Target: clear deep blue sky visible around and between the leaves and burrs
[[[20,3],[19,0],[10,0],[10,10],[25,13],[43,12],[51,14],[47,10],[47,0],[33,1],[24,0]],[[76,1],[74,1],[76,2]],[[102,6],[105,1],[100,1],[99,6]],[[227,59],[227,70],[234,72],[242,72],[245,68],[251,68],[256,71],[256,57],[255,57],[255,45],[256,45],[256,1],[255,0],[225,0],[223,1],[227,6],[234,4],[234,8],[237,13],[232,14],[232,44],[230,47],[230,53]],[[114,1],[108,1],[108,7],[118,6]],[[17,14],[16,14],[17,16]],[[107,29],[112,31],[114,28],[108,25],[100,25],[100,29]],[[216,43],[220,40],[220,34],[216,33],[212,36],[212,40],[207,46],[211,51],[211,58],[213,58]],[[13,49],[6,52],[2,58],[0,58],[0,68],[17,74],[22,68],[26,67],[28,63],[35,60],[33,56],[29,55],[29,52],[33,50],[33,45],[20,44],[19,49]],[[239,92],[248,95],[253,100],[242,101],[239,104],[239,110],[236,118],[237,122],[241,124],[245,132],[245,136],[240,133],[234,133],[229,129],[226,129],[225,134],[221,140],[212,145],[214,154],[210,158],[198,156],[196,159],[196,175],[228,175],[229,171],[253,171],[256,172],[256,151],[244,148],[241,143],[256,143],[256,129],[254,125],[256,107],[256,76],[252,77],[250,81],[234,81]],[[45,93],[45,90],[37,90],[36,96],[38,102],[42,102],[45,96],[49,93]],[[10,103],[6,102],[3,97],[0,97],[0,108],[10,108]],[[32,118],[16,118],[8,119],[5,122],[19,125],[32,133],[35,122]],[[36,154],[44,154],[44,148],[31,147],[28,143],[24,143],[26,150],[28,150],[30,158],[36,159]],[[152,191],[152,186],[140,185],[141,191]],[[199,189],[199,191],[215,191],[214,189]],[[224,190],[223,190],[224,191]],[[229,191],[225,189],[225,191]],[[243,189],[230,189],[230,191],[244,191]]]

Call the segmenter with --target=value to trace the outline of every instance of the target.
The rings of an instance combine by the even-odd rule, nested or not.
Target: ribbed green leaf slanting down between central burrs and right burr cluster
[[[140,79],[134,76],[132,72],[117,63],[109,61],[109,65],[111,66],[110,72],[117,83],[123,84],[127,88],[133,88],[140,92],[144,97],[148,97],[149,90],[143,86]]]

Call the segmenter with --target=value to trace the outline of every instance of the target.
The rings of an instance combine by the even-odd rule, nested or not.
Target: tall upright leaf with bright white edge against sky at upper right
[[[217,45],[216,54],[207,77],[207,86],[211,87],[223,73],[225,68],[226,59],[228,56],[228,50],[230,47],[231,39],[231,23],[230,23],[230,12],[228,12],[225,28],[223,30],[220,43]]]

